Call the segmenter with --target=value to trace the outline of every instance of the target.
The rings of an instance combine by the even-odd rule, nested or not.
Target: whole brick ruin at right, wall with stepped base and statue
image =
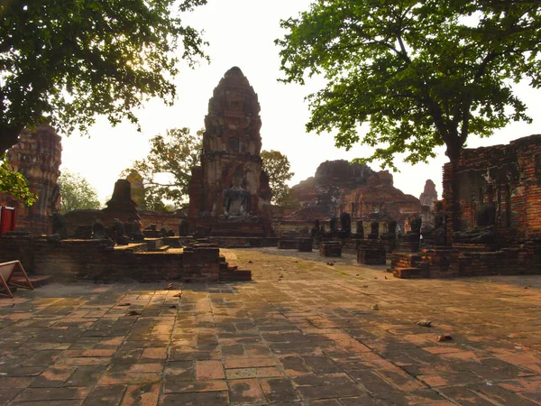
[[[455,171],[445,164],[443,180],[439,242],[436,237],[418,253],[393,253],[395,276],[541,272],[541,135],[465,149]]]

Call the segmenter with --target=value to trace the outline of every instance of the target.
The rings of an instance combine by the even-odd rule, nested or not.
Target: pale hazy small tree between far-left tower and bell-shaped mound
[[[63,171],[59,178],[60,214],[71,210],[100,208],[96,189],[78,173]]]

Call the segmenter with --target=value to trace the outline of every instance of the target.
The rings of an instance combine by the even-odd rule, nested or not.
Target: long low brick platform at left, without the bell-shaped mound
[[[224,265],[217,245],[193,243],[184,249],[171,249],[163,245],[162,238],[112,246],[106,240],[0,237],[0,262],[14,260],[21,261],[26,272],[49,275],[55,281],[202,282],[220,281],[220,275],[225,275],[220,272]],[[227,280],[239,275],[245,281],[248,277],[244,273],[228,274]]]

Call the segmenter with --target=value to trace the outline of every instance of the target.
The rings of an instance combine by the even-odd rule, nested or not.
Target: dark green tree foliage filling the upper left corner
[[[42,122],[82,134],[106,115],[137,123],[150,97],[171,104],[179,57],[206,58],[180,19],[206,0],[0,2],[0,152]]]

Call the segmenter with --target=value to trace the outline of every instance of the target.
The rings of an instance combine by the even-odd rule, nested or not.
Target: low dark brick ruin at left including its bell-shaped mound
[[[57,221],[54,231],[58,234],[0,236],[0,263],[19,260],[37,278],[47,276],[56,281],[204,282],[252,278],[249,270],[230,266],[217,245],[194,242],[180,249],[179,236],[163,235],[156,229],[141,231],[138,219],[130,182],[117,180],[107,208],[69,212]]]

